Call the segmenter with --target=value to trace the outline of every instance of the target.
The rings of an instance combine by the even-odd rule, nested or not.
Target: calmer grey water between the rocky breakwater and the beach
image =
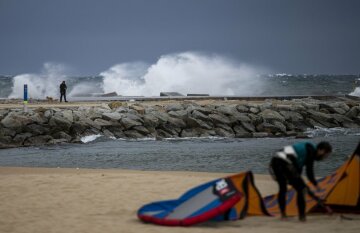
[[[359,129],[317,129],[308,133],[313,137],[310,141],[326,140],[334,148],[329,158],[315,164],[317,176],[339,167],[360,141]],[[98,135],[83,140],[85,144],[3,149],[0,166],[225,173],[252,170],[268,174],[268,163],[275,151],[304,141],[295,138],[114,140]]]

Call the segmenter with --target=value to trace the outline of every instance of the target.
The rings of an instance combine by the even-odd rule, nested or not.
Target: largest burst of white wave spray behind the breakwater
[[[158,96],[160,92],[251,95],[262,90],[264,69],[218,55],[184,52],[161,56],[153,65],[124,63],[102,72],[105,93]]]

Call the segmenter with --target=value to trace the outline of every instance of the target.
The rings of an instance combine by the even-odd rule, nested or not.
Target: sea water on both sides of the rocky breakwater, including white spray
[[[196,65],[194,65],[196,64]],[[216,67],[216,69],[208,69]],[[259,75],[256,67],[237,66],[223,58],[196,54],[164,56],[153,65],[120,64],[97,76],[73,77],[46,65],[39,74],[0,76],[0,98],[21,98],[23,84],[32,98],[56,97],[62,80],[71,97],[96,96],[116,91],[119,95],[159,96],[160,91],[182,94],[282,96],[360,96],[360,75]],[[315,84],[315,85],[314,85]],[[333,155],[316,164],[317,175],[333,171],[355,149],[360,131],[317,129],[311,140],[328,140]],[[253,170],[266,174],[271,155],[281,147],[301,139],[153,139],[114,140],[94,135],[85,144],[0,150],[0,166],[119,168],[138,170],[179,170],[239,172]]]

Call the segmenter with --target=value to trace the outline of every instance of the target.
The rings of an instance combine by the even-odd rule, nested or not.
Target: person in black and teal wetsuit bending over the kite
[[[321,203],[321,199],[306,186],[304,180],[301,178],[301,173],[303,167],[306,166],[306,175],[309,181],[319,190],[314,176],[314,161],[327,158],[331,151],[332,147],[328,142],[320,142],[317,145],[310,142],[302,142],[292,146],[286,146],[272,157],[270,173],[279,185],[278,203],[282,219],[287,218],[285,209],[287,184],[293,186],[297,192],[300,221],[306,221],[306,193],[309,193],[310,196]]]

